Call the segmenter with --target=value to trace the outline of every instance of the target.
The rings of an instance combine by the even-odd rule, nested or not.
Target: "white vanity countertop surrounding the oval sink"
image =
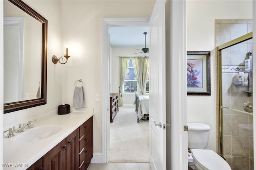
[[[71,112],[66,115],[53,115],[42,121],[32,122],[34,128],[45,125],[62,125],[63,129],[48,138],[29,143],[19,143],[16,141],[15,137],[22,135],[22,133],[18,134],[14,132],[14,137],[4,138],[3,140],[4,163],[1,164],[1,166],[8,170],[27,169],[54,146],[65,139],[70,133],[92,117],[92,115],[94,115],[93,112]],[[26,131],[30,131],[32,129],[25,129],[23,133],[26,133]]]

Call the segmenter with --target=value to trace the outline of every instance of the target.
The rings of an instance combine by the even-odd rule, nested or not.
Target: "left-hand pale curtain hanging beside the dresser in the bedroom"
[[[123,89],[126,72],[128,70],[129,62],[130,62],[130,57],[120,57],[120,61],[119,61],[120,81],[119,81],[119,93],[118,93],[118,106],[123,106],[122,89]]]

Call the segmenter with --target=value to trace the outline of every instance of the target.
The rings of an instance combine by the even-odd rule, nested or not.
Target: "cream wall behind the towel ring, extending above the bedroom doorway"
[[[69,44],[72,58],[64,70],[63,100],[72,104],[74,82],[81,78],[85,82],[85,107],[94,107],[94,153],[102,153],[102,18],[150,17],[154,3],[154,0],[62,1],[62,41]],[[100,94],[100,102],[95,101],[96,94]]]

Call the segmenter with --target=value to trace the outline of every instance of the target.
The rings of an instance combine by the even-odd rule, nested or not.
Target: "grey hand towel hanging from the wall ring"
[[[74,96],[73,96],[73,107],[81,108],[84,107],[84,88],[75,87]]]

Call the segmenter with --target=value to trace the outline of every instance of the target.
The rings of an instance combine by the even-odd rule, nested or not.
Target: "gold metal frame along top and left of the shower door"
[[[247,41],[249,39],[252,39],[252,32],[250,33],[247,33],[241,37],[238,37],[236,39],[233,39],[232,41],[229,41],[227,43],[224,43],[218,47],[216,47],[216,54],[217,54],[217,57],[216,57],[216,63],[217,63],[217,71],[218,71],[218,78],[217,78],[217,81],[218,81],[218,93],[217,93],[217,111],[218,111],[218,128],[217,129],[217,138],[219,139],[219,142],[217,143],[217,150],[218,150],[218,154],[220,154],[221,156],[224,156],[223,155],[223,116],[222,116],[222,106],[223,106],[223,103],[222,103],[222,55],[221,55],[221,50],[223,49],[226,49],[228,47],[231,47],[233,45],[236,45],[238,43],[241,43],[243,41]]]

